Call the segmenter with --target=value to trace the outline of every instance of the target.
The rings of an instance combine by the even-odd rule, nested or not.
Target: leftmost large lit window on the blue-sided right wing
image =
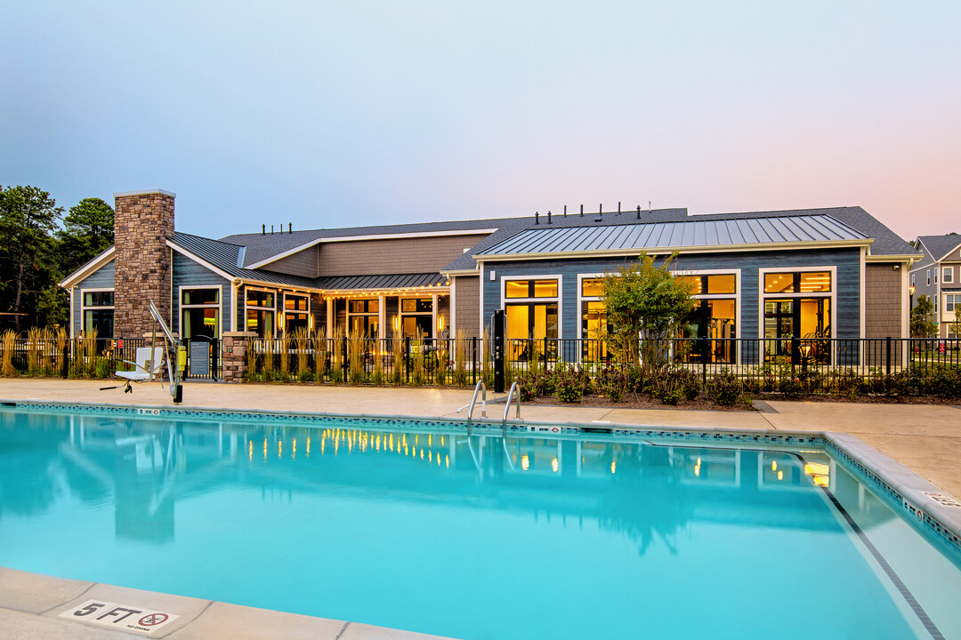
[[[538,348],[531,341],[559,337],[558,282],[548,277],[504,281],[508,359],[527,360]],[[548,348],[555,349],[556,343]]]

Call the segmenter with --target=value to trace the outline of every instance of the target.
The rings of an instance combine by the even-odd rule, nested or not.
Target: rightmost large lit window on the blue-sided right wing
[[[829,361],[833,272],[763,273],[767,358]]]

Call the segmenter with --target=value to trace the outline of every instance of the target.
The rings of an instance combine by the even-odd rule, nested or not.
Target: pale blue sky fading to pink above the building
[[[0,3],[0,185],[178,230],[861,205],[961,232],[961,3]]]

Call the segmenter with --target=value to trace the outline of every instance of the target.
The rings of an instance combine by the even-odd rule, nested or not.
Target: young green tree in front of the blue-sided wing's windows
[[[612,327],[605,338],[615,356],[650,371],[666,362],[668,339],[695,307],[691,286],[670,271],[677,253],[660,267],[640,260],[604,275],[601,299]]]

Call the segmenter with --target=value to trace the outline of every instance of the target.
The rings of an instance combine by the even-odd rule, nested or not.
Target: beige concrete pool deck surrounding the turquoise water
[[[136,385],[133,393],[100,391],[109,381],[4,379],[0,400],[173,405],[166,387]],[[456,410],[471,401],[471,391],[315,387],[299,385],[219,385],[187,383],[183,408],[303,413],[417,415],[464,417]],[[493,394],[491,394],[493,396]],[[525,406],[527,420],[555,422],[608,421],[618,424],[681,428],[776,429],[848,433],[900,462],[945,493],[961,496],[961,406],[919,404],[854,404],[842,402],[769,401],[771,411],[721,412],[640,410],[581,406]],[[503,414],[504,405],[488,408]],[[491,410],[492,409],[492,410]],[[511,415],[513,411],[511,411]],[[477,415],[477,414],[475,414]],[[176,611],[180,618],[156,633],[121,632],[59,617],[62,611],[90,599]],[[427,640],[436,636],[357,623],[311,618],[212,603],[180,596],[137,591],[106,584],[68,581],[0,568],[0,639],[108,639],[162,637],[273,640]]]

